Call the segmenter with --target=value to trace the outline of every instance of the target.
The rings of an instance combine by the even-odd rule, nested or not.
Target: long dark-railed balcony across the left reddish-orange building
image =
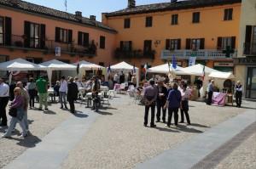
[[[76,43],[55,42],[54,40],[42,40],[40,38],[31,38],[26,41],[24,36],[13,35],[10,44],[0,44],[0,47],[9,48],[10,50],[23,49],[24,51],[41,51],[44,54],[55,53],[56,47],[61,47],[62,54],[95,56],[96,45],[90,43],[88,47],[80,46]]]

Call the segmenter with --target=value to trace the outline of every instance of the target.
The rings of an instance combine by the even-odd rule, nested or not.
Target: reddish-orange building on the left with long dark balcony
[[[23,58],[34,63],[78,59],[113,63],[116,31],[82,13],[68,14],[20,0],[0,0],[0,61]]]

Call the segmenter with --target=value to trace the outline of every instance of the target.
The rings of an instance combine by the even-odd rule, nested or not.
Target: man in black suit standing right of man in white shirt
[[[70,78],[69,83],[67,85],[67,100],[70,105],[70,112],[75,113],[74,100],[78,99],[78,86],[75,82],[73,82],[73,77]]]

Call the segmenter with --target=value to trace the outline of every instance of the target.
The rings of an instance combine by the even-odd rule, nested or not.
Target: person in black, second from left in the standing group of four
[[[158,95],[156,99],[156,105],[157,105],[156,122],[160,122],[160,115],[162,110],[163,112],[162,121],[166,123],[166,109],[164,109],[164,106],[166,104],[167,88],[164,86],[164,81],[165,81],[165,78],[160,77],[159,81],[157,82]]]

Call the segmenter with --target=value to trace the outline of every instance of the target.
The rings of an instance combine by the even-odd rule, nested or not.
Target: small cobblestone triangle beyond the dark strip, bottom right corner
[[[256,132],[221,161],[216,169],[254,169],[256,168]]]

